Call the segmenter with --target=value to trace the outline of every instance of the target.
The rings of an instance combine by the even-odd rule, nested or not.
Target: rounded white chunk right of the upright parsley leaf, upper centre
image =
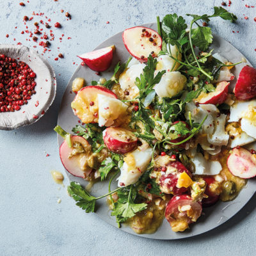
[[[179,71],[166,72],[160,82],[154,86],[154,90],[159,97],[173,97],[184,89],[186,76]]]

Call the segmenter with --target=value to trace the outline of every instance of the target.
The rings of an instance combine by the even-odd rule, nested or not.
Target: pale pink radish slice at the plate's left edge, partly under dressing
[[[87,140],[85,140],[81,136],[72,136],[71,137],[72,145],[74,145],[75,142],[78,142],[82,145],[83,148],[91,147]],[[79,159],[77,156],[70,156],[70,153],[74,150],[74,147],[69,148],[67,145],[67,141],[63,141],[63,143],[60,146],[60,159],[63,166],[66,168],[66,170],[71,173],[72,175],[76,177],[84,178],[84,171],[81,169],[79,165]],[[86,170],[86,175],[88,175],[91,170]]]

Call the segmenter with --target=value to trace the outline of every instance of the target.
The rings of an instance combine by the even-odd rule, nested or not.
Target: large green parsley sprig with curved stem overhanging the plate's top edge
[[[195,54],[194,46],[197,46],[201,51],[206,51],[212,43],[212,32],[211,28],[200,26],[198,21],[204,20],[205,22],[209,22],[209,20],[213,17],[220,17],[224,20],[230,20],[234,22],[237,20],[236,15],[228,12],[222,7],[214,6],[214,13],[212,15],[193,15],[187,14],[188,16],[193,17],[189,26],[189,35],[186,33],[186,22],[181,16],[177,16],[176,13],[168,14],[164,17],[163,22],[160,22],[159,17],[157,17],[157,27],[161,35],[163,35],[164,44],[163,44],[163,52],[161,54],[166,54],[166,52],[170,55],[170,57],[179,62],[182,66],[186,66],[195,70],[198,70],[200,73],[204,74],[205,77],[208,77],[210,81],[214,79],[211,72],[205,71],[200,63],[204,63],[207,57],[198,58]],[[193,28],[193,25],[196,24],[196,28]],[[170,48],[168,49],[167,45],[177,45],[179,47],[179,51],[184,53],[184,60],[180,61],[177,59],[177,56],[172,56],[172,52]],[[194,57],[194,61],[189,62],[186,53],[191,51]],[[204,61],[204,62],[203,62]],[[241,63],[241,62],[239,62]],[[237,65],[238,63],[234,64]],[[180,67],[181,68],[181,67]]]

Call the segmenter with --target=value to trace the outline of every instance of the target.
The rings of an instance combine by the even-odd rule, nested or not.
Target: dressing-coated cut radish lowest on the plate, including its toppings
[[[202,213],[202,205],[193,201],[191,196],[173,196],[165,209],[165,218],[170,223],[172,230],[182,232],[195,222]]]

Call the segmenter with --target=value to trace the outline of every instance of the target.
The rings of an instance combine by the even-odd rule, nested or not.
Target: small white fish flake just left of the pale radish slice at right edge
[[[219,161],[206,161],[201,153],[197,153],[191,161],[195,165],[195,175],[217,175],[222,170]]]

